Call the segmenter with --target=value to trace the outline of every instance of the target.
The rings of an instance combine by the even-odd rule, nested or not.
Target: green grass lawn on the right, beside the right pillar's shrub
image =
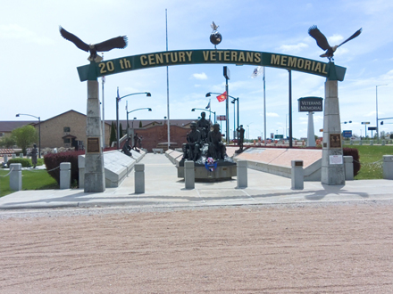
[[[382,157],[393,155],[393,146],[345,145],[344,147],[355,148],[359,151],[361,167],[355,180],[381,179]]]

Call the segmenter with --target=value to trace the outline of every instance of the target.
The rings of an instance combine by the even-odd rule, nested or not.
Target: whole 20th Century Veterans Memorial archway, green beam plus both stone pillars
[[[344,80],[345,68],[335,65],[333,62],[326,63],[278,53],[244,50],[176,50],[132,55],[98,63],[93,61],[89,65],[78,68],[80,81],[88,81],[88,148],[86,160],[90,161],[88,159],[90,154],[96,157],[91,159],[91,171],[88,170],[88,167],[85,167],[85,192],[105,191],[105,176],[98,175],[101,171],[104,174],[104,163],[102,150],[99,148],[102,135],[101,125],[99,123],[101,118],[97,78],[130,70],[183,64],[265,66],[287,69],[289,73],[291,70],[296,70],[326,78],[322,144],[322,184],[345,183],[342,147],[341,142],[337,142],[339,140],[338,138],[340,138],[338,81]],[[289,101],[291,101],[290,93]],[[102,162],[102,167],[96,166],[97,161]],[[94,167],[100,169],[98,174]],[[91,175],[88,175],[88,173],[91,173]],[[90,178],[94,183],[87,185],[86,181],[89,181]],[[96,182],[99,182],[99,185],[104,185],[104,187],[97,188]]]

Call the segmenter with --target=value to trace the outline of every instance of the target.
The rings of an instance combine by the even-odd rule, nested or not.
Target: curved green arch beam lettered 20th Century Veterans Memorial
[[[146,53],[109,61],[92,62],[78,68],[80,81],[95,80],[125,71],[181,64],[238,64],[290,69],[344,80],[346,69],[334,63],[314,61],[303,57],[243,50],[178,50]],[[332,71],[335,69],[335,73]]]

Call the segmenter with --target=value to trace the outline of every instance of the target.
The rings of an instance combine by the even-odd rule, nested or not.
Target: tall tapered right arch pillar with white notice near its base
[[[334,63],[330,62],[330,70],[335,70]],[[322,184],[345,184],[342,156],[338,81],[328,79],[325,82],[323,111]]]

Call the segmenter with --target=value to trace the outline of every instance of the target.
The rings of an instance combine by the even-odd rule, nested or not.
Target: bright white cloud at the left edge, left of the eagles
[[[36,43],[38,45],[49,45],[54,43],[52,39],[38,36],[34,31],[16,24],[0,25],[0,38],[23,39],[27,43]]]

